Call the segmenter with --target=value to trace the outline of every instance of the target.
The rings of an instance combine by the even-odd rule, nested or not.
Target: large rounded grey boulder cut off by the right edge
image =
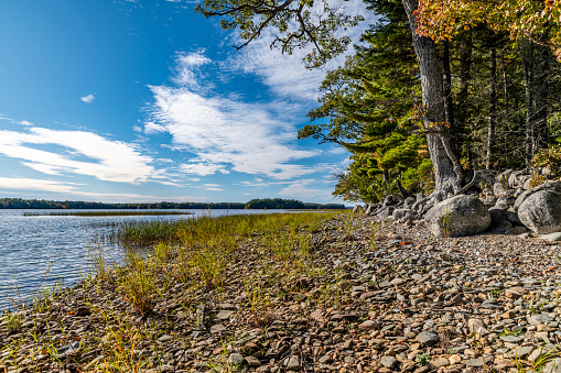
[[[532,189],[518,207],[518,218],[539,234],[561,231],[561,182],[546,183]]]

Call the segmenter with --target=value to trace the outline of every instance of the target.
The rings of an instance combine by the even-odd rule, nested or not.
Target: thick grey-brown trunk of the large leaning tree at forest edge
[[[439,201],[460,190],[463,171],[450,145],[447,131],[443,128],[445,100],[442,91],[443,69],[439,54],[431,39],[421,37],[416,33],[417,21],[413,12],[418,7],[417,0],[402,0],[402,2],[411,24],[413,48],[421,75],[423,124],[429,132],[427,142],[435,177],[435,190],[432,198]]]

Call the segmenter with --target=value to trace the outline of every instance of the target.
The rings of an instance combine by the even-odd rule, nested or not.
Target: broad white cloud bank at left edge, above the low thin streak
[[[58,145],[64,152],[45,151],[33,145]],[[22,160],[22,164],[47,175],[79,174],[100,180],[144,183],[161,177],[132,144],[110,141],[85,131],[57,131],[31,128],[28,132],[0,131],[0,154]],[[76,157],[87,157],[78,161]]]

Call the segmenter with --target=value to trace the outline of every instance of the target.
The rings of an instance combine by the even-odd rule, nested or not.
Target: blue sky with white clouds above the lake
[[[267,33],[236,51],[195,3],[2,2],[0,197],[338,201],[348,154],[296,140],[325,72]]]

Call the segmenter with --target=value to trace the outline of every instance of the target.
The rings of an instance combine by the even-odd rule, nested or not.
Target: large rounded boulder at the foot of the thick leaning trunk
[[[460,195],[435,205],[424,220],[432,234],[456,237],[485,231],[490,224],[490,215],[478,198]]]

